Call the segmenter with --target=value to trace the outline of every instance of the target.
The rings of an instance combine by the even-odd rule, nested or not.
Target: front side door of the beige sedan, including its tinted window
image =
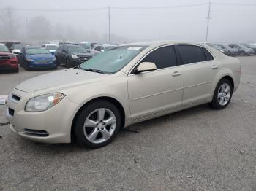
[[[173,46],[153,50],[139,63],[142,62],[155,63],[157,70],[140,74],[132,71],[128,75],[132,120],[181,106],[182,101],[183,74],[181,66],[176,66],[177,58]]]

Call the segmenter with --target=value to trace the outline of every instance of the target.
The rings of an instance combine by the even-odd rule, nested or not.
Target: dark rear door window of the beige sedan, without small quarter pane
[[[178,52],[180,52],[181,60],[184,64],[206,61],[206,56],[202,47],[194,45],[178,45]]]

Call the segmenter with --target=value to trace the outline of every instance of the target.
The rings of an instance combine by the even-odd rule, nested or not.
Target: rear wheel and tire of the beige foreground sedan
[[[225,107],[230,104],[232,95],[233,86],[230,80],[223,78],[217,84],[210,106],[213,109],[225,109]]]

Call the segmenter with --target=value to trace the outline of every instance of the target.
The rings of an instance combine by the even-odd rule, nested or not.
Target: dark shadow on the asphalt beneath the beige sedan
[[[115,147],[115,144],[122,144],[129,139],[129,136],[132,136],[132,133],[143,133],[143,131],[148,131],[153,128],[156,128],[155,125],[165,125],[165,123],[170,123],[171,121],[178,122],[179,120],[184,120],[184,118],[189,117],[191,115],[200,115],[206,112],[214,112],[216,110],[211,109],[208,104],[203,104],[200,106],[195,106],[190,109],[185,109],[180,112],[174,112],[172,114],[166,114],[162,117],[157,117],[151,120],[146,120],[143,122],[139,122],[135,125],[131,125],[127,127],[125,130],[120,130],[117,135],[117,139],[115,139],[112,143],[110,143],[106,147]],[[88,147],[82,147],[79,144],[71,143],[71,144],[44,144],[35,141],[30,141],[28,139],[24,139],[20,137],[20,141],[23,144],[26,144],[28,147],[32,147],[30,149],[35,150],[36,152],[49,152],[54,154],[67,154],[69,152],[90,152],[94,149],[90,149]],[[104,148],[104,147],[103,147]],[[99,148],[101,149],[101,148]]]

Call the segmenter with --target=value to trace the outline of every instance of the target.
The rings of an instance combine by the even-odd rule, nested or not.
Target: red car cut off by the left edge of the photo
[[[3,70],[18,72],[19,66],[17,57],[4,44],[0,44],[0,71]]]

